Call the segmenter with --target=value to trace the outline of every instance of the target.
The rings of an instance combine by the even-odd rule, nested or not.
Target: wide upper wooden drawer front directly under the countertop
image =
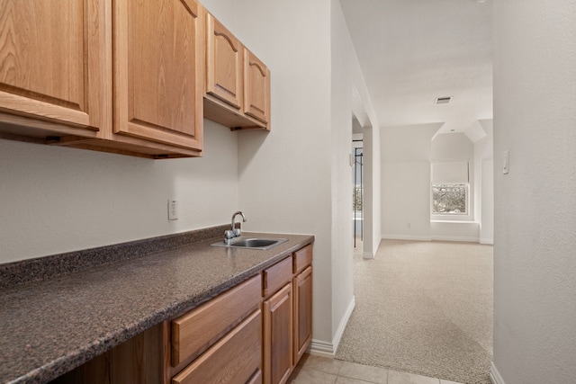
[[[172,366],[205,351],[258,306],[262,278],[254,276],[172,321]]]

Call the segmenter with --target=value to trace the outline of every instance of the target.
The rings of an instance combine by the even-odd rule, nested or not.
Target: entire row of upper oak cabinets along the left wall
[[[196,0],[2,0],[0,25],[0,138],[167,158],[202,156],[204,117],[270,127],[268,69]]]

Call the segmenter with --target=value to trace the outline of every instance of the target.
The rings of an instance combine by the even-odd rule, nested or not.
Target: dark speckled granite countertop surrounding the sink
[[[313,242],[270,250],[179,245],[46,280],[0,287],[0,382],[44,383],[177,317]]]

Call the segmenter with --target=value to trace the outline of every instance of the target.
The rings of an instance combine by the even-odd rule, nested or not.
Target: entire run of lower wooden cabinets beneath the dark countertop
[[[53,384],[284,384],[311,343],[312,246]]]

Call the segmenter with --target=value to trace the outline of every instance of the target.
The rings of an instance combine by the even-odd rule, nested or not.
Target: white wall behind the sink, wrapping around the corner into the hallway
[[[271,132],[239,135],[246,228],[316,236],[313,346],[331,353],[353,304],[348,156],[356,54],[337,1],[245,0],[238,20],[234,32],[272,74]]]

